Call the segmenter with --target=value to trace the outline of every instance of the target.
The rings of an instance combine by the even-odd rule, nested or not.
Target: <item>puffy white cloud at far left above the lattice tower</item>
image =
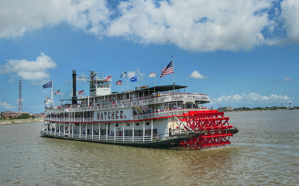
[[[16,73],[22,80],[30,80],[33,85],[40,85],[44,79],[50,78],[48,69],[54,69],[57,64],[43,52],[36,61],[6,60],[7,63],[0,66],[0,73]]]

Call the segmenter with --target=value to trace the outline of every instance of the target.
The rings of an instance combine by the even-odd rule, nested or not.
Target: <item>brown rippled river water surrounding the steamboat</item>
[[[299,110],[226,112],[239,133],[204,150],[41,137],[0,125],[0,185],[299,185]]]

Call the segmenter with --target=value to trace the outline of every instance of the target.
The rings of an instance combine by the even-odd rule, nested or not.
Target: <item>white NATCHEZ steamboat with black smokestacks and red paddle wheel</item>
[[[53,88],[52,98],[46,98],[40,132],[43,136],[139,147],[201,149],[230,144],[229,138],[238,132],[223,112],[207,109],[208,95],[185,93],[187,86],[173,83],[112,92],[111,81],[91,71],[89,96],[77,97],[76,75],[73,70],[71,100],[60,100],[54,106]],[[65,101],[71,104],[63,104]]]

